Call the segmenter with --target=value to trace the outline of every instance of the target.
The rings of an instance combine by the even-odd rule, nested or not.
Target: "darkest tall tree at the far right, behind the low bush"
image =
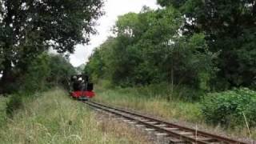
[[[218,80],[230,86],[255,86],[256,2],[254,0],[158,0],[186,19],[183,34],[205,33],[218,58]],[[178,2],[178,4],[177,4]],[[223,85],[223,84],[222,84]],[[221,86],[225,87],[225,86]]]

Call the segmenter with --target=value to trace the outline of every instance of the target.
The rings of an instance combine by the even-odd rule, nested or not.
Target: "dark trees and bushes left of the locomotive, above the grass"
[[[68,88],[70,74],[76,72],[68,56],[75,45],[90,41],[102,4],[100,0],[0,1],[0,97],[9,97],[10,118],[22,108],[23,97],[54,86]]]

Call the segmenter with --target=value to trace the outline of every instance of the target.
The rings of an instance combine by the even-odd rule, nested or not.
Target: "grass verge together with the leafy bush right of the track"
[[[226,94],[236,93],[236,96],[230,94],[229,97],[232,98],[224,97],[225,94],[211,94],[214,97],[202,102],[187,102],[178,98],[178,95],[168,101],[164,93],[162,95],[156,92],[152,86],[110,89],[104,87],[104,84],[102,85],[100,82],[96,93],[98,95],[95,97],[95,101],[110,106],[125,107],[179,125],[197,127],[198,130],[210,133],[226,134],[233,138],[256,139],[255,118],[252,114],[254,108],[250,107],[254,106],[254,101],[250,101],[252,99],[249,97],[251,91],[247,89],[224,92]],[[242,98],[242,95],[239,94],[247,94],[247,97]],[[209,101],[211,103],[207,103]],[[239,101],[244,102],[240,103]],[[246,101],[250,102],[246,103]],[[248,130],[247,124],[250,126],[250,130]]]

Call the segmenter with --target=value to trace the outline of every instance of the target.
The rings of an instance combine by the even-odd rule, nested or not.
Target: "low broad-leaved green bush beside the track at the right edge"
[[[222,126],[256,126],[256,91],[247,88],[208,94],[202,102],[206,122]],[[246,116],[246,118],[245,118]]]

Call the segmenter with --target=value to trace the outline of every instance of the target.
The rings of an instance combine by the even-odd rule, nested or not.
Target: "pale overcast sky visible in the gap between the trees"
[[[157,9],[157,0],[106,0],[103,10],[105,15],[98,19],[98,34],[91,37],[89,46],[76,46],[74,54],[70,55],[70,62],[73,66],[80,66],[88,62],[88,58],[92,54],[95,47],[99,46],[111,34],[110,29],[114,26],[119,15],[129,12],[138,13],[142,10],[142,6],[149,6],[152,9]]]

